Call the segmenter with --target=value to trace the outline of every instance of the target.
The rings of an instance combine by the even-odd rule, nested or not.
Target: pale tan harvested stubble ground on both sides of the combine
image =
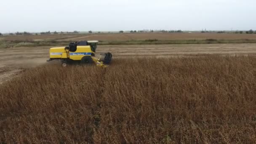
[[[0,83],[24,69],[46,64],[51,46],[0,49]],[[198,56],[207,54],[256,54],[256,44],[206,45],[99,45],[98,53],[111,52],[115,58],[144,56]]]

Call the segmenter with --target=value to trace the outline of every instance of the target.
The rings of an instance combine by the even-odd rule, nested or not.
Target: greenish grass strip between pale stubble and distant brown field
[[[35,46],[56,46],[68,45],[70,41],[61,40],[0,40],[0,48],[12,47],[35,47]],[[228,43],[256,43],[253,39],[237,39],[237,40],[218,40],[218,39],[205,39],[205,40],[115,40],[115,41],[99,41],[99,45],[179,45],[179,44],[228,44]]]

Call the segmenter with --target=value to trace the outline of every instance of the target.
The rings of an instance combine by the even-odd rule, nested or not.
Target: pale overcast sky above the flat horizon
[[[0,1],[0,32],[256,30],[256,0]]]

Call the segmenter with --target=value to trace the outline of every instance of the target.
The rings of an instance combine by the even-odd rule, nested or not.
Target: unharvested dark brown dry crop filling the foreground
[[[256,143],[255,94],[255,56],[43,65],[0,85],[0,143]]]

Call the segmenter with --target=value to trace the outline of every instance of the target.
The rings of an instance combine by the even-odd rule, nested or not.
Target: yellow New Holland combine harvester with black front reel
[[[97,56],[96,48],[98,41],[78,41],[69,43],[67,47],[50,48],[50,59],[60,60],[62,67],[67,64],[93,64],[99,67],[108,67],[112,60],[111,53],[101,53]]]

